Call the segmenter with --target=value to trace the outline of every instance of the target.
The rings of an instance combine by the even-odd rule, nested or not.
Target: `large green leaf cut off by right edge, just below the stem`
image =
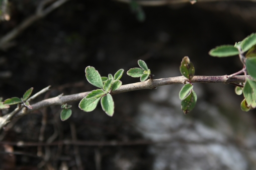
[[[246,79],[246,84],[243,88],[243,93],[248,106],[256,108],[256,81]]]

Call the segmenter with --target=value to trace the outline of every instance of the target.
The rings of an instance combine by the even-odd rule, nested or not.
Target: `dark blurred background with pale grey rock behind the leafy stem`
[[[86,66],[107,76],[138,67],[138,59],[155,79],[180,76],[184,56],[195,75],[242,69],[239,57],[208,52],[256,31],[256,3],[191,2],[0,0],[0,97],[51,85],[33,104],[91,91]],[[139,78],[124,74],[121,81]],[[85,113],[74,102],[68,103],[73,114],[66,121],[60,106],[14,119],[0,131],[0,170],[255,170],[256,111],[241,111],[243,96],[235,87],[195,83],[197,104],[186,115],[181,87],[114,95],[113,117],[100,106]]]

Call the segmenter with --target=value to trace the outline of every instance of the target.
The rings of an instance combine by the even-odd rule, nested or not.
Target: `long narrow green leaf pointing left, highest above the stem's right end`
[[[209,52],[209,55],[213,57],[229,57],[229,56],[236,56],[238,54],[239,54],[238,49],[233,45],[218,46]]]

